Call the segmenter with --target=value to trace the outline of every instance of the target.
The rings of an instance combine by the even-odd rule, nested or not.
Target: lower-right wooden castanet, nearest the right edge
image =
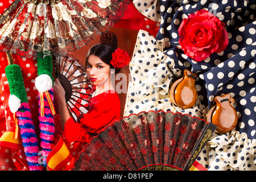
[[[230,94],[221,94],[214,98],[216,105],[213,106],[208,114],[207,121],[217,126],[217,132],[228,133],[236,127],[238,115],[236,109],[232,106],[235,102]]]

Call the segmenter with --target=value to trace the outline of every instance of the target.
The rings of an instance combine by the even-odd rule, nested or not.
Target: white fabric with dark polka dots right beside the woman
[[[172,103],[170,87],[175,81],[174,76],[181,77],[181,71],[174,68],[174,59],[163,52],[166,46],[170,46],[168,38],[156,40],[147,31],[139,31],[130,62],[132,80],[129,82],[124,115],[164,110],[205,119],[206,109],[199,100],[189,109],[181,109]],[[168,53],[174,54],[173,51]],[[167,64],[174,75],[167,68]]]

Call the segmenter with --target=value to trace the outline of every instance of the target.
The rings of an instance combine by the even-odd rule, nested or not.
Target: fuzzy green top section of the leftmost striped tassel
[[[5,68],[5,75],[9,82],[10,93],[20,99],[20,102],[27,101],[27,92],[24,86],[21,68],[12,64]]]

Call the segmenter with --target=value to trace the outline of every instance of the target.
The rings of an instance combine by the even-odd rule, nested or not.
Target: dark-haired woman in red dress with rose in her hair
[[[105,35],[108,36],[110,33]],[[116,35],[114,34],[114,36]],[[96,90],[92,97],[94,102],[92,111],[84,114],[79,121],[74,121],[69,115],[65,90],[60,81],[56,79],[53,92],[59,106],[59,118],[63,129],[62,137],[65,142],[71,143],[69,151],[74,158],[81,151],[82,146],[90,142],[90,139],[97,135],[98,131],[119,119],[120,101],[115,92],[112,78],[122,67],[129,64],[129,61],[130,56],[127,52],[117,48],[117,42],[105,43],[102,40],[100,44],[89,49],[85,65]]]

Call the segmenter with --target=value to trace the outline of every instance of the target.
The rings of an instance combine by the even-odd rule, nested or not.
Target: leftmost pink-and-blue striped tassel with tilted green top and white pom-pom
[[[30,106],[27,103],[27,94],[24,87],[22,72],[19,65],[8,65],[5,69],[6,78],[9,82],[11,99],[15,98],[16,106],[11,105],[10,108],[20,107],[14,114],[20,128],[20,137],[24,146],[26,160],[30,171],[42,171],[43,166],[39,164],[39,143],[35,133],[35,126],[31,119]],[[15,96],[15,97],[14,97]],[[17,102],[18,98],[21,103]],[[10,103],[10,102],[9,102]],[[13,110],[14,111],[14,110]],[[16,127],[17,129],[18,127]],[[15,131],[15,136],[18,131]]]

